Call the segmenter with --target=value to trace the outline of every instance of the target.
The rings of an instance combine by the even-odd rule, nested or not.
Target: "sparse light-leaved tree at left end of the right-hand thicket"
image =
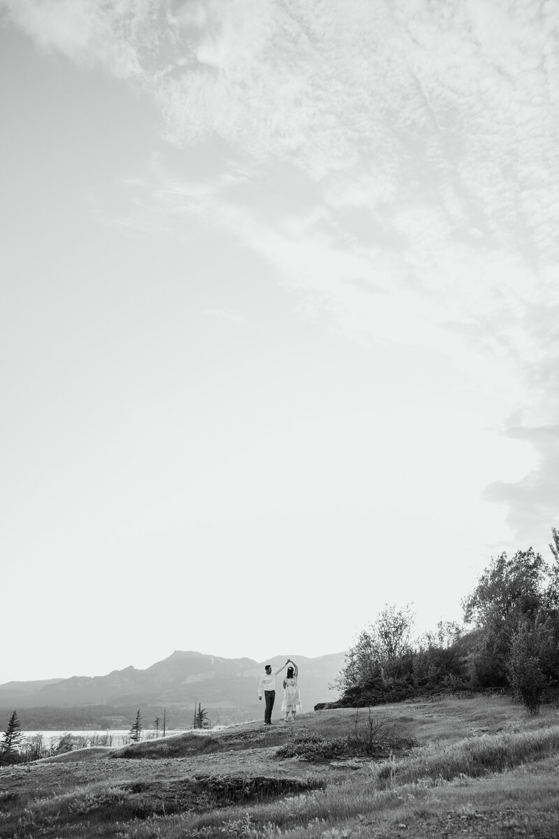
[[[349,648],[344,667],[334,684],[345,691],[391,670],[396,659],[411,652],[413,624],[414,615],[409,604],[403,609],[386,604],[374,623],[362,629],[355,644]]]

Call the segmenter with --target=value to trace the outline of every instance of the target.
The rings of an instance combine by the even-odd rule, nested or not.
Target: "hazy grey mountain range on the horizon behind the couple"
[[[344,655],[293,656],[299,667],[303,711],[338,698],[338,691],[329,685],[341,670]],[[51,727],[49,721],[54,727],[76,727],[76,720],[85,717],[89,722],[82,722],[84,727],[123,727],[133,709],[145,709],[150,717],[162,716],[165,709],[169,722],[172,717],[174,725],[182,726],[193,717],[194,703],[200,703],[212,724],[241,722],[263,713],[257,687],[268,661],[277,670],[285,659],[276,656],[257,662],[175,650],[146,670],[126,667],[100,676],[11,681],[0,685],[0,712],[5,716],[8,709],[18,709],[22,721],[30,721],[28,727]],[[282,671],[277,676],[277,711],[284,675]]]

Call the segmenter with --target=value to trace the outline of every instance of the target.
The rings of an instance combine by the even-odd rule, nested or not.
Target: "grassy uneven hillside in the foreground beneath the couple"
[[[85,749],[0,769],[0,811],[3,839],[556,839],[559,711],[446,699]]]

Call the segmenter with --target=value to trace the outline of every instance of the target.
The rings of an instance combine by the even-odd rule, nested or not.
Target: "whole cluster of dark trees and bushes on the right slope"
[[[349,649],[330,706],[505,690],[536,714],[559,690],[559,531],[551,536],[549,563],[532,548],[490,560],[463,599],[462,626],[440,621],[414,643],[411,606],[386,605]]]

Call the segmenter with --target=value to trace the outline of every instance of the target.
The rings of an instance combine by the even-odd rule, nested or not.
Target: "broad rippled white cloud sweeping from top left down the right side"
[[[169,143],[228,143],[236,163],[211,178],[185,182],[154,165],[138,224],[186,215],[226,227],[298,289],[308,313],[448,352],[488,393],[501,388],[517,412],[514,435],[541,452],[541,466],[490,494],[511,520],[536,517],[526,499],[549,494],[547,465],[559,457],[556,3],[0,8],[43,49],[152,96]],[[301,203],[276,208],[272,223],[272,196],[259,214],[242,190],[263,195],[275,164],[297,173]]]

